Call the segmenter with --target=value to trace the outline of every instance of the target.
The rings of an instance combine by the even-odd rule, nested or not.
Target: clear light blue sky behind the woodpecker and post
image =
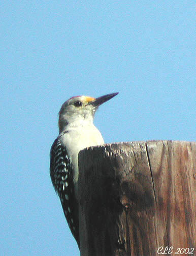
[[[3,0],[1,255],[79,255],[49,176],[70,97],[119,92],[95,116],[106,143],[195,141],[194,10],[195,1]]]

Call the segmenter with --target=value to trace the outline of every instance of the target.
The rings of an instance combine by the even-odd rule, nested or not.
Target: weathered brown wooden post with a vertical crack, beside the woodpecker
[[[195,162],[191,142],[80,151],[81,256],[196,255]]]

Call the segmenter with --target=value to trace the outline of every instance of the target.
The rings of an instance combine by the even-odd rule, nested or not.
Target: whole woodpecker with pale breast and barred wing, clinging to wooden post
[[[101,104],[117,94],[96,99],[72,97],[62,104],[59,111],[59,135],[50,151],[50,177],[78,247],[78,153],[86,147],[104,144],[100,131],[93,124],[94,113]]]

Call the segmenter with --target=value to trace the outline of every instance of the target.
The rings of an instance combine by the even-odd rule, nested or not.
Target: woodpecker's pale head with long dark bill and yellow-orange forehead
[[[118,92],[110,93],[99,98],[76,96],[64,102],[59,111],[59,133],[65,130],[68,125],[77,127],[92,123],[97,108],[117,94]]]

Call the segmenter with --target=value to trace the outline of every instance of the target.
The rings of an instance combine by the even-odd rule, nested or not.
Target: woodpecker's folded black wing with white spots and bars
[[[74,195],[72,163],[66,147],[61,144],[60,137],[54,141],[51,147],[50,177],[60,198],[70,230],[79,246],[78,204]]]

